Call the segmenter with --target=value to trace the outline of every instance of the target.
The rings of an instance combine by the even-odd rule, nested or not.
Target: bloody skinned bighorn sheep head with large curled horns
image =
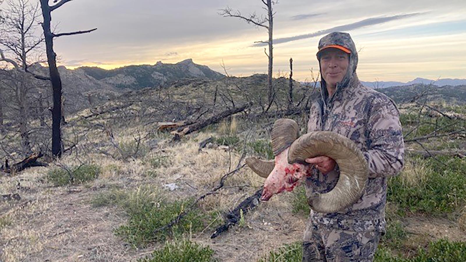
[[[292,119],[275,121],[272,129],[274,161],[246,159],[247,165],[259,176],[267,178],[260,200],[267,201],[282,191],[292,191],[306,176],[312,175],[312,165],[305,159],[328,156],[340,168],[340,178],[328,193],[306,192],[308,203],[317,212],[340,211],[362,195],[368,176],[368,164],[356,144],[331,131],[309,132],[298,138],[298,124]]]

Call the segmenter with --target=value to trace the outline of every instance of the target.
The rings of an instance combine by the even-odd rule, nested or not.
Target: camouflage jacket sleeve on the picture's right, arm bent
[[[367,122],[367,151],[369,177],[390,177],[404,165],[404,142],[395,103],[388,97],[376,97],[369,110]]]

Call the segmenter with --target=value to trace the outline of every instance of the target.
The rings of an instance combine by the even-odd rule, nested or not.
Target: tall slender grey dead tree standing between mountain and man
[[[261,0],[264,5],[267,6],[263,7],[267,10],[267,17],[260,16],[258,17],[255,13],[250,14],[248,16],[241,15],[239,10],[233,11],[232,8],[226,7],[220,10],[220,15],[223,17],[238,17],[248,24],[253,24],[254,26],[266,28],[268,32],[268,41],[257,41],[256,43],[266,43],[268,45],[268,54],[266,49],[264,48],[264,52],[268,58],[268,74],[267,74],[267,88],[268,88],[268,104],[272,104],[274,100],[274,87],[272,85],[272,69],[273,69],[273,28],[274,28],[274,15],[272,5],[277,4],[278,1],[272,0]],[[266,25],[268,22],[268,25]]]

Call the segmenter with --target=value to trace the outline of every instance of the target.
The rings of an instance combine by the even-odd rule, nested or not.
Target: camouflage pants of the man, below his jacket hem
[[[303,262],[372,262],[382,233],[320,228],[308,223]]]

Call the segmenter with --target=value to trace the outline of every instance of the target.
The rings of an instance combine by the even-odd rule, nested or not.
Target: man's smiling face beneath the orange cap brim
[[[349,54],[337,48],[327,48],[320,57],[322,77],[329,87],[342,82],[349,66]]]

